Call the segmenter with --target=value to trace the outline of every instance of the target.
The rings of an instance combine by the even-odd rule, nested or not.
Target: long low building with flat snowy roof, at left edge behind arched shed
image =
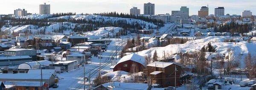
[[[21,63],[32,62],[29,56],[7,56],[0,57],[0,66],[19,65]]]

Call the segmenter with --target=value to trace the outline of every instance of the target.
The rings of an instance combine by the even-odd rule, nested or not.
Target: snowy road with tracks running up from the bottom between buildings
[[[115,41],[116,39],[112,39],[110,45],[108,45],[107,51],[102,52],[102,60],[101,60],[101,71],[113,71],[110,69],[111,67],[111,57],[115,59],[117,49],[117,59],[119,56],[118,51],[122,49],[122,39]],[[112,50],[111,50],[112,49]],[[85,65],[85,76],[89,78],[90,74],[90,82],[93,82],[97,76],[99,76],[99,57],[92,57],[92,61],[88,61],[90,64]],[[119,59],[118,59],[119,60]],[[50,90],[83,90],[84,89],[84,68],[77,68],[76,70],[65,72],[58,74],[60,79],[58,82],[58,88],[50,88]],[[89,88],[89,81],[85,82],[85,89]]]

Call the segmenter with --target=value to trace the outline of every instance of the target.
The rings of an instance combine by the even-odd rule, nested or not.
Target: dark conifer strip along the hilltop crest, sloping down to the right
[[[116,13],[116,11],[114,12],[107,12],[107,13],[99,13],[96,15],[101,15],[101,16],[111,16],[111,17],[122,17],[122,18],[132,18],[132,19],[140,19],[146,22],[152,22],[154,23],[154,25],[157,25],[159,27],[163,27],[164,26],[164,22],[162,20],[157,20],[157,19],[151,19],[145,16],[138,16],[138,15],[130,15],[130,14],[124,14],[124,13]]]

